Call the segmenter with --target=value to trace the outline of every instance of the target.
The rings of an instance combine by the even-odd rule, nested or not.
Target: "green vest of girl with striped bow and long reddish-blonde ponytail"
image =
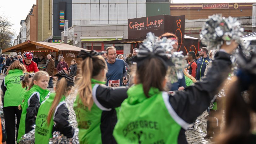
[[[52,129],[54,126],[53,117],[51,118],[50,124],[47,123],[48,113],[52,106],[53,100],[55,97],[55,93],[51,93],[49,98],[42,102],[39,107],[37,119],[36,119],[36,128],[35,128],[35,144],[48,144],[49,139],[52,138]],[[65,96],[61,98],[59,103],[65,103]],[[58,107],[58,106],[57,106]],[[54,115],[55,112],[53,112]]]

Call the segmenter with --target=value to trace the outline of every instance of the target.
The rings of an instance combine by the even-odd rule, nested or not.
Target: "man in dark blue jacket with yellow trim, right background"
[[[201,80],[201,77],[204,76],[206,64],[208,61],[210,61],[210,58],[207,54],[208,54],[208,49],[206,47],[201,48],[201,51],[199,53],[201,58],[199,58],[196,61],[196,63],[197,63],[196,80]]]

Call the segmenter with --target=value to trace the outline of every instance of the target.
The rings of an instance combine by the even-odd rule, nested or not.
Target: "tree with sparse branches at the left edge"
[[[15,32],[12,29],[13,24],[5,15],[0,16],[0,49],[6,49],[13,45]]]

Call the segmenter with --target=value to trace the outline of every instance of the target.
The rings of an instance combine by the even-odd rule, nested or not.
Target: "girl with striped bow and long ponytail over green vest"
[[[68,108],[65,98],[74,86],[73,76],[67,75],[63,70],[55,76],[59,77],[55,93],[42,102],[36,118],[35,144],[48,144],[54,131],[72,138],[74,130],[68,122]]]

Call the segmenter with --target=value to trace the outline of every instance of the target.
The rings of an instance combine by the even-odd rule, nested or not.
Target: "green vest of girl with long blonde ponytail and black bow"
[[[100,82],[95,79],[91,79],[92,95],[96,96],[96,88],[98,84],[105,84],[105,82]],[[98,83],[98,84],[96,84]],[[76,101],[73,104],[74,111],[76,112],[76,119],[79,128],[79,142],[80,144],[102,144],[101,139],[101,114],[104,107],[98,107],[95,103],[95,98],[93,98],[94,103],[91,110],[85,107],[82,101],[79,99],[79,95],[76,97]],[[99,104],[99,103],[98,103]],[[99,104],[101,105],[101,104]],[[110,109],[111,110],[111,109]]]

